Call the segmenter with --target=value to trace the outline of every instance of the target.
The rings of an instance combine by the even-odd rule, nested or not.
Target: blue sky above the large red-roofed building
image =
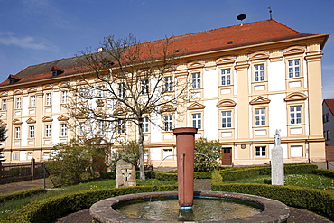
[[[97,49],[103,37],[142,42],[273,18],[302,33],[334,34],[334,0],[0,0],[0,81],[27,66]],[[334,37],[323,51],[323,98],[334,98]]]

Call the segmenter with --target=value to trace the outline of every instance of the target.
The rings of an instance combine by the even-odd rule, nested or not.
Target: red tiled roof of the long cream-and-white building
[[[172,47],[181,50],[184,55],[192,55],[201,52],[221,51],[246,47],[268,42],[281,42],[285,40],[312,37],[320,34],[300,33],[292,28],[279,23],[276,20],[265,20],[255,23],[244,23],[224,28],[213,29],[198,33],[184,34],[172,37]],[[325,44],[329,34],[325,35],[321,47]],[[159,46],[163,40],[148,42]],[[147,43],[145,43],[147,44]],[[80,60],[77,57],[55,60],[42,64],[29,66],[18,72],[15,77],[21,78],[19,83],[33,80],[49,79],[52,77],[53,66],[63,70],[59,77],[78,72]],[[5,80],[0,86],[6,86],[9,80]]]

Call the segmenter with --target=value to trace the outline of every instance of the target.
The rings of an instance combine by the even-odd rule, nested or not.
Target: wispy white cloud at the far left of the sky
[[[44,51],[51,51],[55,48],[49,41],[33,38],[32,36],[17,37],[12,32],[0,32],[0,44]]]

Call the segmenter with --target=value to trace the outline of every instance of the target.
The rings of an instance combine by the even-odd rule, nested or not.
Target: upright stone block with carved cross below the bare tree
[[[116,188],[135,186],[135,166],[123,160],[116,163]]]

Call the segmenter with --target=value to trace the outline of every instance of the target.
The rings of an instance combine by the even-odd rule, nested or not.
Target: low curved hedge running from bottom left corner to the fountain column
[[[119,189],[88,190],[79,193],[63,194],[49,199],[32,202],[1,223],[48,223],[81,209],[88,209],[98,200],[139,192],[177,190],[177,186],[127,187]]]

